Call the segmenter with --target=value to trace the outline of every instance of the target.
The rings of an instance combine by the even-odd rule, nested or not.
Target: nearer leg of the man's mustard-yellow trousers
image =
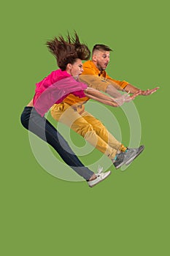
[[[83,113],[88,115],[87,111]],[[77,110],[74,110],[72,107],[63,102],[58,105],[55,104],[51,108],[51,115],[55,120],[61,121],[61,123],[72,128],[74,132],[77,132],[79,135],[85,138],[88,143],[97,148],[103,154],[106,154],[109,159],[114,159],[115,155],[117,154],[117,148],[112,148],[105,140],[103,140],[103,138],[96,134],[93,126],[88,123],[88,120],[85,120],[83,113],[80,115]]]

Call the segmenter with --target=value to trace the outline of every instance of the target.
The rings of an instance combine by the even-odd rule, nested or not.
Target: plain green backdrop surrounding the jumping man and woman
[[[74,29],[90,48],[114,49],[109,75],[161,87],[135,99],[141,157],[93,189],[47,173],[20,124],[35,83],[56,69],[46,40]],[[1,255],[169,255],[168,75],[168,1],[1,3]]]

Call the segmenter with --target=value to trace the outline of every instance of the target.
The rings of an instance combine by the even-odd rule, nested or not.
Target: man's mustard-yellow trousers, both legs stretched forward
[[[55,120],[72,128],[109,159],[114,159],[117,151],[121,150],[122,144],[109,133],[101,121],[85,111],[84,105],[71,107],[62,102],[53,105],[50,112]]]

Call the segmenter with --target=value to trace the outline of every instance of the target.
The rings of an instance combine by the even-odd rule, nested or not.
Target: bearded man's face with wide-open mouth
[[[93,63],[100,71],[105,70],[109,64],[109,51],[96,50],[93,53]]]

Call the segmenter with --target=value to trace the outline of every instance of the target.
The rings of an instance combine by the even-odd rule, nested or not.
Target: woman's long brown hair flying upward
[[[55,56],[58,67],[66,70],[67,64],[74,64],[76,59],[90,59],[90,50],[88,46],[80,43],[77,33],[74,31],[74,37],[67,34],[66,40],[62,36],[55,37],[53,40],[46,42],[50,53]]]

